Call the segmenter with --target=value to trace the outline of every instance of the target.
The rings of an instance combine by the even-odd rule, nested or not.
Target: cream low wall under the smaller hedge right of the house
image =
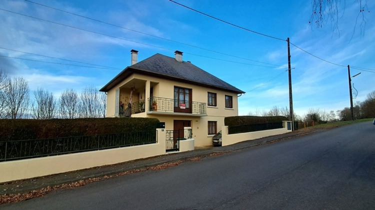
[[[245,133],[235,133],[235,134],[228,134],[228,126],[221,127],[221,145],[231,145],[234,143],[238,143],[245,140],[252,140],[257,138],[262,138],[271,135],[278,135],[283,134],[286,132],[291,132],[291,129],[288,129],[289,121],[283,121],[282,126],[283,128],[279,129],[271,129],[271,130],[260,130],[254,132],[245,132]],[[290,125],[290,124],[289,124]]]

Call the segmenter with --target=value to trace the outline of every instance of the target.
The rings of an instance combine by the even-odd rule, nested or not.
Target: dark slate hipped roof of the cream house
[[[204,71],[190,62],[179,62],[174,57],[162,54],[154,54],[131,66],[127,66],[111,81],[103,86],[100,91],[108,91],[118,82],[122,81],[133,72],[151,74],[159,77],[167,77],[174,80],[181,80],[188,83],[200,84],[208,87],[227,90],[235,93],[245,93],[244,91],[230,85],[216,76]]]

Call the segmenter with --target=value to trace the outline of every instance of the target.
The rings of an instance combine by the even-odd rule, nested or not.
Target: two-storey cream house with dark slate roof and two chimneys
[[[139,62],[138,51],[130,52],[131,65],[100,89],[107,93],[107,117],[129,115],[131,109],[131,117],[158,118],[166,130],[191,128],[195,146],[205,146],[225,116],[238,115],[237,97],[244,91],[183,61],[182,52]]]

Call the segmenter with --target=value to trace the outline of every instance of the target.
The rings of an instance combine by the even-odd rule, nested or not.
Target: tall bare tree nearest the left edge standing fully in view
[[[4,88],[7,105],[5,107],[8,117],[22,118],[24,117],[29,106],[27,81],[22,77],[10,79]]]

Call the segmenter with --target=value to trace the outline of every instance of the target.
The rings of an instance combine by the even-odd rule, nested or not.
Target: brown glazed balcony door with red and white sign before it
[[[191,113],[191,89],[174,87],[174,112]]]

